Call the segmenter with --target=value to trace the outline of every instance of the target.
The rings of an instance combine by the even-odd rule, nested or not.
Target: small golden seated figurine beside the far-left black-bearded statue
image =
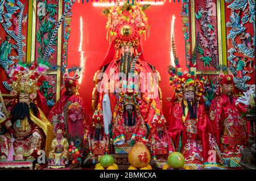
[[[63,131],[57,129],[56,138],[52,140],[51,151],[49,151],[48,168],[59,169],[68,165],[68,140],[63,137]]]

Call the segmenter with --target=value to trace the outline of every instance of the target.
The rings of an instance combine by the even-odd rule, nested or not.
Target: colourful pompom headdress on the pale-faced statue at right
[[[199,100],[204,92],[204,77],[199,81],[195,76],[195,71],[182,73],[181,68],[169,66],[170,85],[173,86],[179,100],[183,99],[185,91],[195,92],[196,99]],[[193,70],[193,68],[191,68]]]

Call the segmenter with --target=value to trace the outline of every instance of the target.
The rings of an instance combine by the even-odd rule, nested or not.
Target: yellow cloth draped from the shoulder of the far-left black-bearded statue
[[[46,115],[44,115],[40,108],[38,108],[38,110],[40,112],[39,118],[36,117],[30,109],[30,119],[43,130],[44,134],[46,134],[46,155],[48,155],[49,150],[51,149],[52,140],[55,138],[55,135],[53,133],[52,125],[46,118]]]

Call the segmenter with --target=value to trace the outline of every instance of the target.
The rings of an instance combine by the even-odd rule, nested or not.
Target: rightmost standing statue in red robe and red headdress
[[[240,148],[247,144],[250,127],[241,118],[246,107],[235,104],[233,74],[228,72],[224,75],[221,71],[219,75],[222,93],[212,100],[209,118],[226,167],[240,167]]]

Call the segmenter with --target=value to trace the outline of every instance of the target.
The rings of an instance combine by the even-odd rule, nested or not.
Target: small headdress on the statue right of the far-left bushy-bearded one
[[[76,68],[76,67],[65,69],[65,73],[63,74],[65,87],[77,86],[77,79],[80,78],[81,70],[82,70],[81,68]],[[73,77],[69,75],[69,73],[71,73],[72,71],[75,72]]]

